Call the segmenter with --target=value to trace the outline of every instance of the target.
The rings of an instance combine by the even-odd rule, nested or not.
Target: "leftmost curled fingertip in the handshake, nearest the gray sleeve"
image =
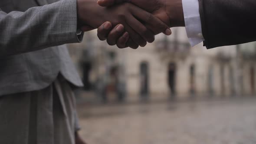
[[[100,27],[98,27],[98,39],[100,40],[106,40],[108,37],[108,33],[110,33],[112,29],[112,24],[110,22],[103,23]]]

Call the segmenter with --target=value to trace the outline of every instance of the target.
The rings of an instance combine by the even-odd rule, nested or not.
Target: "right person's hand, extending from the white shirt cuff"
[[[184,26],[184,15],[182,0],[98,0],[102,7],[110,7],[123,2],[130,2],[158,17],[170,27]],[[155,26],[158,27],[158,26]],[[98,29],[98,35],[107,36],[107,41],[116,42],[120,45],[119,39],[124,37],[116,29]],[[116,39],[113,39],[115,37]],[[111,38],[111,39],[110,39]],[[124,46],[124,43],[121,44]]]

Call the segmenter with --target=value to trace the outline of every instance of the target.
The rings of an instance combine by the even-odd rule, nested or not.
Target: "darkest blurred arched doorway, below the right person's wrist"
[[[174,98],[176,95],[176,65],[173,62],[168,65],[168,85],[171,92],[171,98]]]

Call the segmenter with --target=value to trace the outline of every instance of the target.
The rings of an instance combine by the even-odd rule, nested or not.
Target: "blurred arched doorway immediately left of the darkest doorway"
[[[148,98],[148,62],[141,62],[140,64],[140,96],[141,98]]]

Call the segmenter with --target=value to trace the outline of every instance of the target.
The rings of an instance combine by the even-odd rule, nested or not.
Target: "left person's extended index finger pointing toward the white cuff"
[[[141,10],[141,8],[135,7],[133,5],[130,8],[131,8],[132,14],[135,17],[137,17],[138,19],[142,20],[144,23],[147,23],[151,26],[151,31],[153,31],[155,35],[159,33],[170,35],[170,31],[167,30],[167,29],[170,29],[169,26],[167,26],[164,22],[159,20],[153,14],[148,13],[147,11]]]

